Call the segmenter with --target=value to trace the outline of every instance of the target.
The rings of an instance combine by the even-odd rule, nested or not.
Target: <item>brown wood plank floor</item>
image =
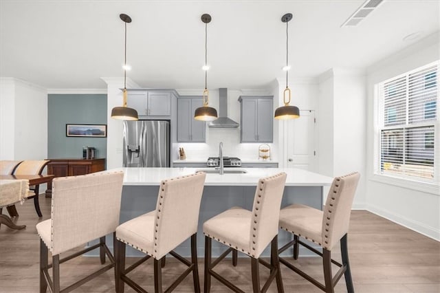
[[[40,195],[43,219],[50,217],[50,199]],[[41,221],[36,216],[32,200],[18,204],[19,217],[16,224],[25,224],[25,230],[0,228],[0,292],[39,292],[39,236],[35,225]],[[3,210],[3,213],[7,213]],[[354,210],[351,213],[349,232],[349,257],[356,292],[440,292],[440,243],[417,232],[394,224],[372,213]],[[339,248],[338,248],[339,250]],[[337,251],[337,250],[335,250]],[[340,255],[336,256],[340,259]],[[127,263],[135,259],[129,259]],[[311,276],[322,276],[322,264],[318,257],[303,257],[296,261],[300,268]],[[88,270],[99,266],[94,257],[79,257],[61,265],[61,285],[72,283],[78,276],[85,276]],[[321,292],[283,265],[282,275],[285,292]],[[217,271],[239,285],[245,292],[252,292],[250,261],[239,259],[239,265],[232,267],[226,260],[217,266]],[[167,258],[162,274],[164,285],[184,270],[184,265]],[[268,272],[260,268],[264,281]],[[133,271],[133,279],[146,290],[153,291],[153,264]],[[203,259],[199,259],[199,274],[203,288]],[[344,278],[338,283],[336,292],[346,292]],[[75,292],[114,292],[113,271],[86,283]],[[133,292],[125,285],[125,292]],[[192,292],[192,278],[187,276],[175,292]],[[212,279],[212,292],[230,292]],[[275,283],[269,292],[277,292]]]

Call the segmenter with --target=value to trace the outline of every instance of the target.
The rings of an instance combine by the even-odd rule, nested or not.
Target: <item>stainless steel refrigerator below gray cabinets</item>
[[[170,166],[169,121],[124,121],[123,136],[124,167]]]

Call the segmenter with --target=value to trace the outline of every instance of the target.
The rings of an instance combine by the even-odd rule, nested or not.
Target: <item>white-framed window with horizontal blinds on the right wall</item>
[[[434,182],[438,62],[378,85],[381,175]],[[438,135],[438,134],[437,134]]]

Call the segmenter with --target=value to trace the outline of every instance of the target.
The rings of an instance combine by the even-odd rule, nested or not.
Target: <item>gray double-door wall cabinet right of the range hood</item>
[[[273,96],[240,96],[241,142],[273,142]]]

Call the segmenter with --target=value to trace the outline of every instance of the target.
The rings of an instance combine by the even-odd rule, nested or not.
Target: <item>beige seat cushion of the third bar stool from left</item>
[[[252,213],[234,206],[212,217],[203,224],[203,233],[225,245],[246,254],[250,253],[250,234]]]

